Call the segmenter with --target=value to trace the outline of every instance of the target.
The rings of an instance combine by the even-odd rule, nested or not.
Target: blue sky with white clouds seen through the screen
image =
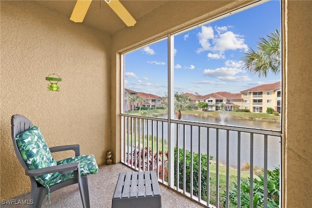
[[[281,75],[259,78],[241,68],[243,53],[260,37],[281,28],[280,1],[271,0],[175,36],[174,90],[207,95],[274,83]],[[125,55],[125,88],[167,95],[168,40]]]

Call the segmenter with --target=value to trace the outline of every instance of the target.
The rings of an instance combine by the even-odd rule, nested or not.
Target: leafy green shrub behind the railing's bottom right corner
[[[254,208],[263,208],[264,204],[264,177],[258,174],[254,178]],[[229,207],[237,207],[237,183],[230,187]],[[250,208],[250,178],[242,179],[240,183],[240,208]],[[226,192],[221,193],[221,203],[226,206]],[[268,208],[277,208],[279,206],[279,168],[273,171],[268,170]]]

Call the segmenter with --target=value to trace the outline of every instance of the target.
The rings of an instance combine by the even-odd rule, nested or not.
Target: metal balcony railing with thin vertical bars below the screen
[[[248,207],[260,201],[256,206],[267,208],[272,200],[280,207],[280,190],[273,199],[268,190],[268,170],[280,168],[279,131],[121,114],[121,132],[122,163],[135,170],[156,170],[160,183],[204,206],[229,208],[231,199],[238,208],[245,207],[242,186],[247,174]],[[210,162],[207,155],[212,156]],[[241,170],[244,162],[250,165],[249,173]],[[254,167],[263,169],[262,174],[256,175]],[[263,191],[255,193],[259,190],[250,181],[261,178]]]

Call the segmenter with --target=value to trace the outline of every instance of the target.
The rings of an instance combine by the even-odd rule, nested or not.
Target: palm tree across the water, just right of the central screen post
[[[174,104],[175,104],[176,118],[178,120],[180,120],[182,117],[181,111],[194,109],[193,101],[191,100],[191,98],[184,95],[183,93],[178,94],[177,92],[175,92]]]

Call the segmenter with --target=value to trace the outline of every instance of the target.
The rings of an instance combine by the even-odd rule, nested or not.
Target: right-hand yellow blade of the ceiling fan
[[[134,19],[119,0],[105,0],[118,17],[128,26],[134,26],[137,21]]]

